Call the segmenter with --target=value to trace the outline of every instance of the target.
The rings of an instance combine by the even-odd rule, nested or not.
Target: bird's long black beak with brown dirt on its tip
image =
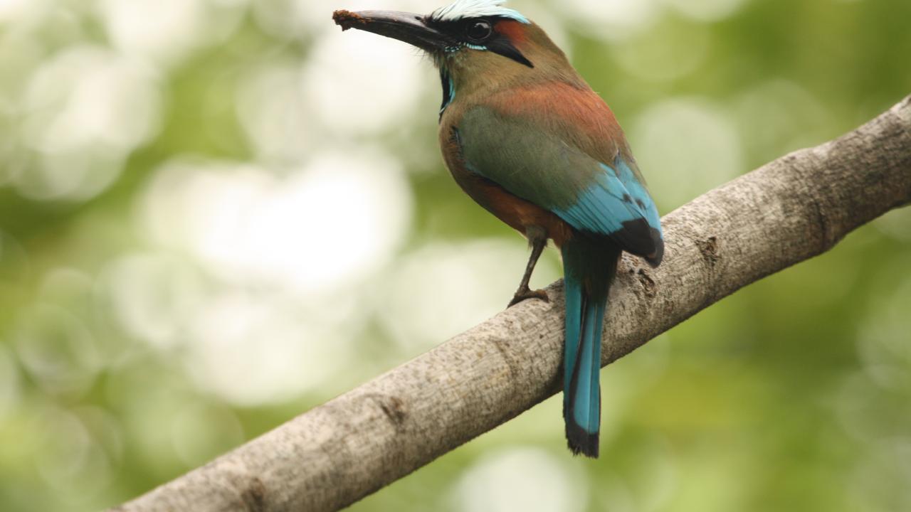
[[[392,37],[414,45],[427,52],[442,51],[447,46],[454,46],[453,37],[428,26],[425,16],[395,11],[335,11],[333,20],[342,30],[356,28],[380,36]]]

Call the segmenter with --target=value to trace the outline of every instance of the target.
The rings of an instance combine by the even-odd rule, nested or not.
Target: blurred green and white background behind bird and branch
[[[507,302],[524,241],[443,168],[433,69],[330,20],[335,8],[436,6],[0,0],[0,510],[136,497]],[[609,101],[665,213],[911,92],[906,0],[511,6]],[[389,77],[377,74],[386,55]],[[294,218],[281,214],[297,211],[292,196],[289,210],[256,217],[277,226],[219,239],[216,257],[192,236],[169,238],[184,223],[192,234],[225,222],[230,234],[251,210],[225,217],[224,183],[279,193],[302,179],[312,198],[308,177],[349,171],[333,164],[346,153],[382,162],[398,184],[380,196],[388,208],[329,194],[338,210]],[[208,178],[181,180],[194,173]],[[170,214],[188,183],[188,216]],[[370,217],[388,229],[362,246],[348,237],[370,233],[317,228],[345,209],[345,226]],[[321,286],[308,280],[322,268],[287,285],[266,253],[285,248],[301,266],[331,261],[310,253],[363,257]],[[548,251],[533,284],[558,271]],[[555,397],[353,509],[911,509],[909,271],[911,213],[898,210],[604,370],[599,460],[569,456]],[[454,301],[425,300],[437,280]],[[215,323],[254,320],[200,327],[226,296],[233,314]],[[302,354],[307,378],[271,350]],[[223,366],[232,353],[254,355]]]

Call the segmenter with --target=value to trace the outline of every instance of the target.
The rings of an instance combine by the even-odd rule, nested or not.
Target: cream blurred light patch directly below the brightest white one
[[[349,321],[325,323],[266,294],[213,297],[192,325],[187,373],[232,404],[281,404],[317,391],[354,357],[356,311],[343,302],[333,308]]]

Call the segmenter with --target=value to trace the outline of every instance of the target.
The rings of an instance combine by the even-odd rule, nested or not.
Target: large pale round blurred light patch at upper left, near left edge
[[[104,190],[124,159],[159,129],[158,77],[100,46],[71,46],[31,77],[23,143],[36,166],[13,178],[35,200],[87,200]]]

